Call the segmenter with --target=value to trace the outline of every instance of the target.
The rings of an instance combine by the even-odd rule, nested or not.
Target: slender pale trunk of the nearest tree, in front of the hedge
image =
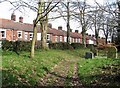
[[[37,26],[36,26],[36,24],[34,24],[30,58],[34,58],[34,53],[35,53],[35,49],[34,48],[35,48],[36,38],[37,38]]]

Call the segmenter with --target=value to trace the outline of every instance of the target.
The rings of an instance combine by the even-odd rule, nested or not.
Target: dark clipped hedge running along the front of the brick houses
[[[92,45],[87,44],[87,48],[91,48]],[[82,49],[84,47],[83,44],[80,43],[72,43],[68,44],[66,42],[52,43],[49,42],[50,49],[61,49],[61,50],[73,50],[73,49]],[[35,43],[35,49],[41,49],[41,41],[37,41]],[[31,50],[31,41],[2,41],[2,50],[5,51],[30,51]]]

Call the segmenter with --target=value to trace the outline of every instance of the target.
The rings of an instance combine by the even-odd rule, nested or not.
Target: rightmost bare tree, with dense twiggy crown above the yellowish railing
[[[105,36],[105,41],[107,43],[109,36],[114,36],[116,33],[116,3],[112,2],[106,2],[103,5],[100,5],[97,3],[97,6],[99,9],[103,12],[103,15],[101,16],[101,23],[102,23],[102,31]],[[113,38],[113,37],[111,37]],[[111,39],[112,40],[112,39]]]

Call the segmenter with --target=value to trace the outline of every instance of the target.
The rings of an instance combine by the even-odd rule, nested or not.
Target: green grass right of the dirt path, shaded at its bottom
[[[82,62],[82,63],[81,63]],[[79,62],[79,78],[85,86],[120,86],[120,59],[95,58]]]

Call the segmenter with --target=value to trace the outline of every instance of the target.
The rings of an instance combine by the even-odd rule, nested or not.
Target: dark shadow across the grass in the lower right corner
[[[120,87],[120,65],[113,64],[100,67],[102,73],[80,76],[81,80],[86,80],[85,86],[118,88]]]

